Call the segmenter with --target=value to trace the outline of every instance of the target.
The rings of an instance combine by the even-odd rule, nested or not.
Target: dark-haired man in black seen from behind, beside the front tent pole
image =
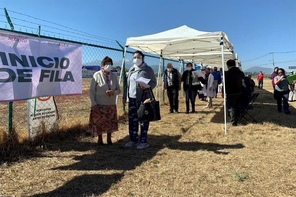
[[[235,66],[235,61],[227,61],[228,71],[225,73],[225,84],[222,88],[222,97],[224,98],[224,88],[226,93],[226,105],[230,115],[230,123],[237,125],[237,105],[241,98],[242,75],[241,70]]]

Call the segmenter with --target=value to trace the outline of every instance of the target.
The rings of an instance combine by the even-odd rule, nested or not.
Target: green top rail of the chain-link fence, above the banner
[[[31,34],[31,33],[16,31],[16,30],[9,30],[9,29],[5,29],[5,28],[1,28],[1,27],[0,27],[0,30],[9,31],[9,32],[16,33],[16,34],[28,35],[28,36],[32,36],[32,37],[36,37],[36,38],[39,37],[37,34]],[[122,49],[112,48],[112,47],[108,47],[108,46],[95,45],[95,44],[91,44],[91,43],[78,42],[78,41],[67,40],[67,39],[63,39],[63,38],[55,38],[55,37],[45,36],[45,35],[40,35],[40,38],[49,39],[49,40],[56,40],[56,41],[61,41],[61,42],[69,42],[69,43],[80,44],[80,45],[85,45],[85,46],[98,47],[98,48],[102,48],[102,49],[124,51]],[[134,53],[133,51],[126,51],[126,52],[127,53]],[[149,54],[145,54],[145,56],[160,59],[160,57],[149,55]],[[168,60],[168,61],[172,61],[172,62],[179,62],[178,60],[174,60],[174,59],[167,59],[167,58],[163,58],[163,59]]]

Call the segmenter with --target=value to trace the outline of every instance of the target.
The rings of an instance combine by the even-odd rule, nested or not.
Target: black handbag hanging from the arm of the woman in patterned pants
[[[144,94],[147,94],[147,93],[150,96],[150,102],[143,103]],[[152,121],[161,120],[160,103],[159,101],[155,100],[154,94],[151,88],[149,88],[147,92],[145,93],[143,92],[142,94],[142,103],[140,103],[140,105],[138,106],[138,120],[139,122],[145,122],[145,121],[152,122]]]

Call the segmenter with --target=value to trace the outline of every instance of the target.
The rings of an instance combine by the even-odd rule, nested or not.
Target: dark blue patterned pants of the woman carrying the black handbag
[[[130,133],[130,141],[138,142],[139,140],[139,121],[138,121],[138,104],[135,98],[129,98],[129,133]],[[147,132],[149,128],[149,122],[140,122],[141,127],[141,135],[140,142],[147,143]]]

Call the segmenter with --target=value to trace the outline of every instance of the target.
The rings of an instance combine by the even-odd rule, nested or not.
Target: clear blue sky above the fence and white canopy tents
[[[7,10],[122,42],[125,42],[127,37],[154,34],[182,25],[201,31],[224,31],[233,43],[234,51],[243,62],[244,70],[252,66],[271,63],[268,60],[271,60],[272,56],[268,55],[244,63],[246,60],[269,52],[296,50],[295,0],[1,0],[0,5],[1,8],[6,7]],[[0,12],[0,14],[4,13],[3,10]],[[42,25],[54,26],[11,12],[9,15]],[[0,16],[0,21],[6,21],[5,17]],[[18,20],[13,20],[13,22],[38,27],[38,25]],[[5,27],[3,24],[0,22],[0,27]],[[16,27],[19,30],[19,27]],[[68,30],[60,26],[54,27]],[[44,26],[41,29],[61,32]],[[274,54],[275,62],[295,59],[296,52]],[[276,66],[287,68],[295,64],[294,61],[276,63]],[[272,68],[272,64],[262,67]]]

